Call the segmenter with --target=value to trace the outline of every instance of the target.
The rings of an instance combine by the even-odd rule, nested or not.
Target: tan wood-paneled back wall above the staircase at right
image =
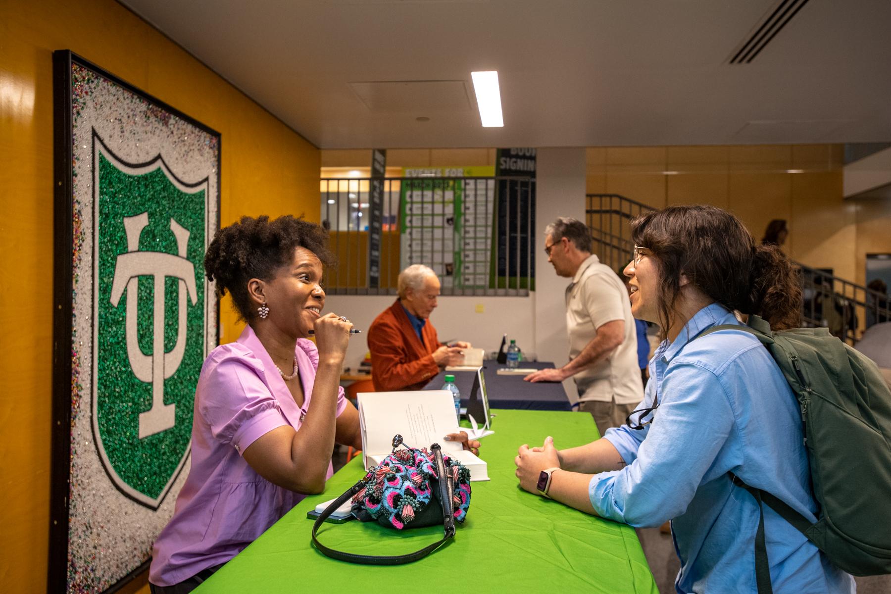
[[[789,256],[862,284],[865,254],[891,251],[891,204],[844,199],[841,157],[839,144],[591,148],[586,186],[652,207],[728,208],[756,240],[785,218]]]

